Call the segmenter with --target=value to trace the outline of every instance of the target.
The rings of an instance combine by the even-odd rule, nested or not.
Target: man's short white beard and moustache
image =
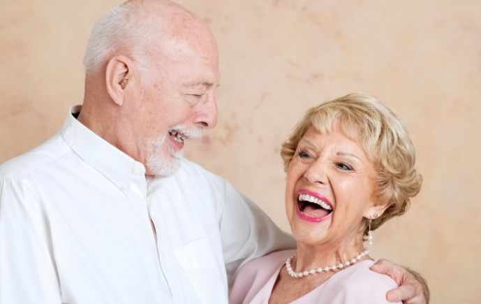
[[[173,126],[171,130],[180,132],[186,136],[186,139],[195,139],[202,136],[202,128],[189,128],[184,124]],[[182,159],[182,150],[175,150],[174,147],[169,147],[164,152],[163,145],[167,139],[168,134],[152,140],[150,146],[153,147],[152,154],[147,159],[147,168],[151,173],[158,176],[169,176],[174,174],[180,168],[180,160]]]

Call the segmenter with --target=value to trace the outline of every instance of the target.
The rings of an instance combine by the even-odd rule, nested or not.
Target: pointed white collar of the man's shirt
[[[133,174],[145,177],[145,166],[129,157],[79,122],[74,115],[82,106],[68,111],[61,136],[73,152],[127,194]]]

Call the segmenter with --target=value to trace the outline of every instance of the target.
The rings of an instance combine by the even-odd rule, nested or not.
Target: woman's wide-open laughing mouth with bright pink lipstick
[[[297,193],[297,215],[309,222],[320,222],[332,213],[334,208],[327,198],[311,191]]]

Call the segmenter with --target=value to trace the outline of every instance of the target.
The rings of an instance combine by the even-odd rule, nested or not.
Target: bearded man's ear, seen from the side
[[[112,57],[105,68],[105,86],[114,103],[124,103],[128,80],[133,75],[133,61],[125,56]]]

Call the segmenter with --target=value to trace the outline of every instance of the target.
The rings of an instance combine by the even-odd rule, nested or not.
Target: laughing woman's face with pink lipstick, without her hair
[[[337,129],[325,135],[309,129],[288,166],[286,213],[298,243],[359,247],[364,218],[378,212],[376,168]]]

